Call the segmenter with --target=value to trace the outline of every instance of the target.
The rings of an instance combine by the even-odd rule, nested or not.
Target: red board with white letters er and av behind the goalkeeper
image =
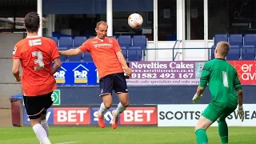
[[[242,85],[256,84],[256,61],[229,61],[238,71]]]

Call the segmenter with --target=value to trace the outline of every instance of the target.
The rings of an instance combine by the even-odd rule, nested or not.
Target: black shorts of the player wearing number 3
[[[41,114],[46,114],[46,110],[53,104],[51,100],[52,93],[32,97],[23,95],[26,114],[30,119],[38,119],[41,117]]]

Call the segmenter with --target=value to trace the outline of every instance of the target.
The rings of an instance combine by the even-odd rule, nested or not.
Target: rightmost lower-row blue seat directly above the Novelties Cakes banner
[[[141,61],[142,49],[138,46],[130,46],[128,49],[128,61]]]

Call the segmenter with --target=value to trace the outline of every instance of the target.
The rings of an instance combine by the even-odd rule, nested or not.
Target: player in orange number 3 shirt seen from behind
[[[34,133],[40,143],[49,144],[46,110],[53,103],[51,94],[56,89],[54,73],[61,66],[61,61],[55,42],[38,36],[38,14],[30,12],[24,21],[27,37],[14,46],[12,71],[16,81],[22,81],[23,100]],[[20,64],[22,77],[19,73]]]

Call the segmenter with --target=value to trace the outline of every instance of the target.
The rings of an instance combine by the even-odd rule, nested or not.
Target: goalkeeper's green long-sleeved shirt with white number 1
[[[238,105],[238,95],[234,90],[242,90],[242,85],[237,70],[225,59],[215,58],[204,64],[199,86],[205,88],[207,82],[210,102],[228,107]]]

